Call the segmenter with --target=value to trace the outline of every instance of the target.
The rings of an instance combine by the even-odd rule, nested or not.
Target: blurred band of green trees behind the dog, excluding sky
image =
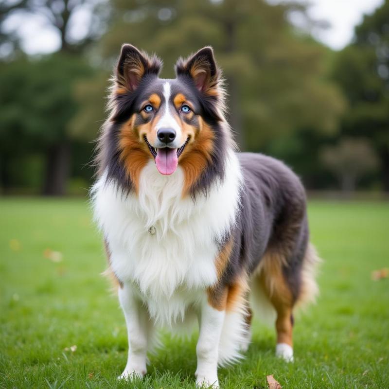
[[[69,33],[89,3],[87,33]],[[334,52],[293,26],[301,3],[261,0],[17,0],[61,36],[57,53],[29,57],[0,33],[0,187],[3,194],[85,193],[108,78],[122,43],[157,53],[162,76],[178,56],[212,45],[229,92],[241,150],[294,168],[310,190],[389,192],[389,1]]]

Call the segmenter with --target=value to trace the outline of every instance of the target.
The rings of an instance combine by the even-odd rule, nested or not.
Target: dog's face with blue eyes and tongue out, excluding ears
[[[203,129],[198,98],[182,80],[154,78],[139,88],[129,123],[134,141],[155,159],[160,174],[173,174],[178,159]],[[128,140],[129,134],[123,132]]]

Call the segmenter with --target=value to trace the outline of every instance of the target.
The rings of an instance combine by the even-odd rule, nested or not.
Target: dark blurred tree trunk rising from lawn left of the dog
[[[70,144],[65,141],[53,145],[47,151],[43,195],[60,196],[65,194],[69,177],[70,154]]]

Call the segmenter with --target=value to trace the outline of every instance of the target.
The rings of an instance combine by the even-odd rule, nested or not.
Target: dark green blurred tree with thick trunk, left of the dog
[[[40,61],[18,59],[0,64],[0,155],[2,185],[8,167],[28,153],[45,155],[45,194],[63,194],[69,174],[69,119],[77,111],[73,86],[90,75],[90,67],[70,54]]]

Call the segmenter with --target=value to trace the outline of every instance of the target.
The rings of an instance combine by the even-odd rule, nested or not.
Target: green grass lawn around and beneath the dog
[[[256,323],[222,388],[266,388],[266,374],[284,388],[389,388],[389,279],[370,277],[389,267],[389,204],[315,201],[309,216],[321,295],[297,315],[295,362],[276,359],[273,329]],[[86,201],[0,200],[0,388],[195,388],[195,336],[166,335],[142,382],[116,381],[127,340],[105,266]]]

